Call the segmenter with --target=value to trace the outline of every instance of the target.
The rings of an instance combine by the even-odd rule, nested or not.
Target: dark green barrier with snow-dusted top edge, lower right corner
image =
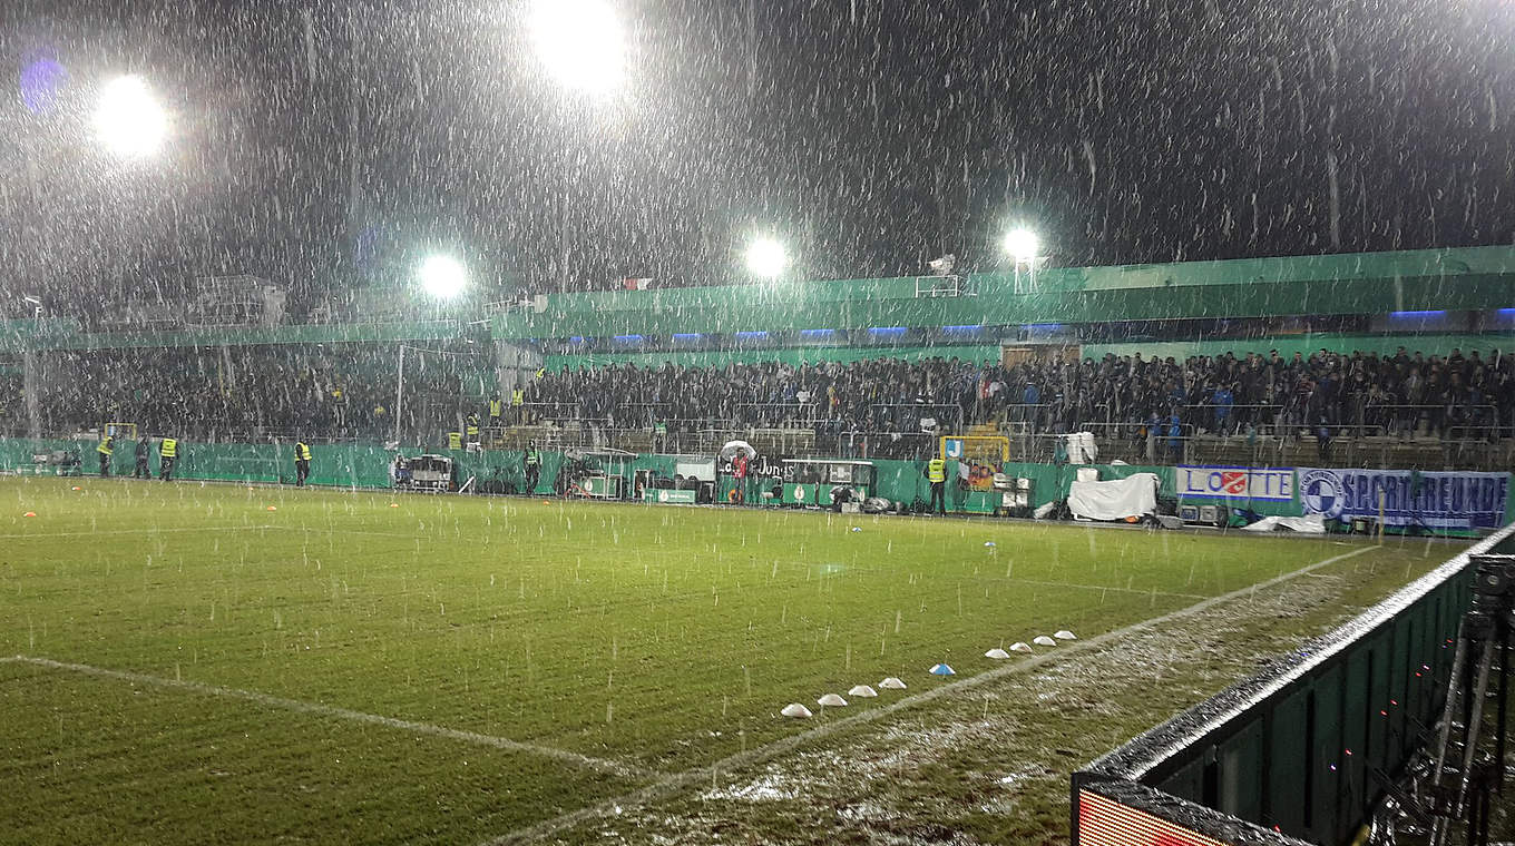
[[[1073,775],[1074,846],[1351,841],[1430,739],[1471,555],[1507,525],[1273,667]]]

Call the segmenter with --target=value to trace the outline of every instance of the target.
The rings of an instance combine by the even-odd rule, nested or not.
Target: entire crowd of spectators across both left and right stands
[[[394,345],[53,353],[39,409],[52,433],[135,422],[180,437],[388,439]],[[0,397],[18,428],[23,403]],[[492,369],[436,351],[408,359],[398,428],[418,437],[483,413]],[[8,383],[8,384],[9,384]],[[1094,427],[1188,434],[1494,439],[1515,433],[1515,360],[1498,351],[1173,357],[1020,363],[961,359],[692,368],[632,363],[541,372],[511,422],[670,431],[814,428],[818,434],[1057,433]],[[506,393],[504,401],[511,397]]]

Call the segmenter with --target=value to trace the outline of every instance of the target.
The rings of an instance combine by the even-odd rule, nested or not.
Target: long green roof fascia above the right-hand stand
[[[1515,307],[1515,248],[1467,247],[974,274],[973,297],[918,297],[917,277],[550,294],[492,321],[495,339],[807,328],[1101,324]]]

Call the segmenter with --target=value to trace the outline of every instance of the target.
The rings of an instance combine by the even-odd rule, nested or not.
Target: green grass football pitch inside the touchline
[[[935,663],[1344,554],[1407,578],[1451,551],[5,480],[0,841],[508,838],[951,683]],[[888,675],[909,690],[777,716]]]

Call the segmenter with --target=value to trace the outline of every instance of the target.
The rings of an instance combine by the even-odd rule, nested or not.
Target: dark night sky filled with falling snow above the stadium
[[[506,0],[0,0],[0,289],[729,283],[1510,244],[1509,0],[627,0],[609,103]],[[267,6],[267,8],[265,8]],[[309,26],[308,26],[309,21]],[[106,79],[173,114],[123,165]],[[565,183],[567,174],[567,183]]]

